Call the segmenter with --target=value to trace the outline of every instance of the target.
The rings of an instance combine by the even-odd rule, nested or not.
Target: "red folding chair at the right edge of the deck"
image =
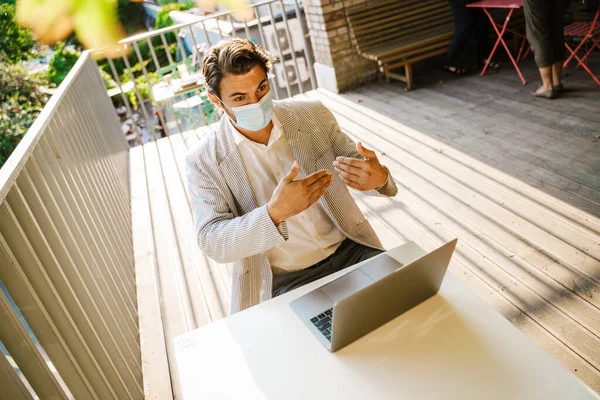
[[[567,58],[564,63],[564,68],[567,67],[569,62],[573,58],[577,60],[577,66],[585,69],[588,74],[596,81],[598,85],[600,85],[600,79],[590,70],[587,66],[587,59],[594,51],[595,48],[600,50],[600,7],[598,7],[598,11],[596,11],[596,15],[594,16],[594,20],[591,22],[574,22],[565,27],[565,47],[569,50],[571,55]],[[579,45],[573,50],[567,41],[581,40]],[[583,58],[579,58],[577,55],[579,51],[583,48],[587,43],[587,48],[584,49],[585,53]]]

